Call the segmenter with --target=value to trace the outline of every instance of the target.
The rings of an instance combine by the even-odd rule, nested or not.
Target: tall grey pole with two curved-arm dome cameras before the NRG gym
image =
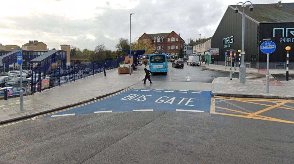
[[[249,2],[251,3],[250,1],[246,1],[246,2],[239,2],[239,3],[242,3],[242,7],[243,7],[243,13],[242,13],[242,52],[241,52],[241,59],[242,59],[242,62],[241,62],[241,66],[240,66],[240,73],[239,73],[239,80],[240,80],[240,83],[245,83],[246,82],[246,66],[244,64],[244,55],[245,55],[245,7],[246,7],[246,3]],[[239,4],[237,3],[237,5]],[[239,11],[239,8],[237,7],[236,5],[236,8],[235,8],[235,12],[238,13]],[[249,7],[249,11],[253,11],[253,6],[252,6],[252,3],[251,3],[251,6]]]

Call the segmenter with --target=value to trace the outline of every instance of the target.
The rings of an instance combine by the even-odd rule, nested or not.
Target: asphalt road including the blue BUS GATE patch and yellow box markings
[[[294,101],[214,97],[210,83],[192,80],[221,72],[169,70],[154,85],[0,125],[0,163],[293,163]]]

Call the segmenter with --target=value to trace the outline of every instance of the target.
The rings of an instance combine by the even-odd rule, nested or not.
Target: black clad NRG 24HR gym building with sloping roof
[[[294,3],[253,4],[253,11],[249,11],[249,6],[245,8],[244,64],[249,68],[266,68],[266,54],[260,51],[260,44],[263,39],[271,39],[277,48],[270,54],[269,68],[285,68],[285,47],[294,47]],[[241,50],[243,10],[238,8],[240,11],[235,13],[235,6],[228,6],[211,39],[211,48],[219,48],[221,65],[225,64],[227,50]],[[289,60],[289,67],[293,68],[294,58]]]

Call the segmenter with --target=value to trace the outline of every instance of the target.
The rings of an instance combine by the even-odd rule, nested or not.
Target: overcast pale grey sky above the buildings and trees
[[[58,48],[69,44],[94,49],[104,44],[114,50],[118,39],[131,41],[144,32],[174,30],[183,39],[214,34],[228,5],[240,0],[5,0],[1,1],[0,43],[23,45],[29,40]],[[252,0],[278,3],[278,0]],[[293,2],[284,0],[283,2]]]

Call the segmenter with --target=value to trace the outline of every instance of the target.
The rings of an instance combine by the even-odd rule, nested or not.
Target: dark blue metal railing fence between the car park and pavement
[[[107,70],[117,68],[124,58],[117,60],[106,61]],[[86,78],[90,75],[103,72],[103,65],[105,62],[88,63],[81,65],[70,65],[66,67],[57,67],[47,71],[34,71],[31,70],[31,92],[41,92],[42,90],[52,87],[60,86],[81,78]]]

